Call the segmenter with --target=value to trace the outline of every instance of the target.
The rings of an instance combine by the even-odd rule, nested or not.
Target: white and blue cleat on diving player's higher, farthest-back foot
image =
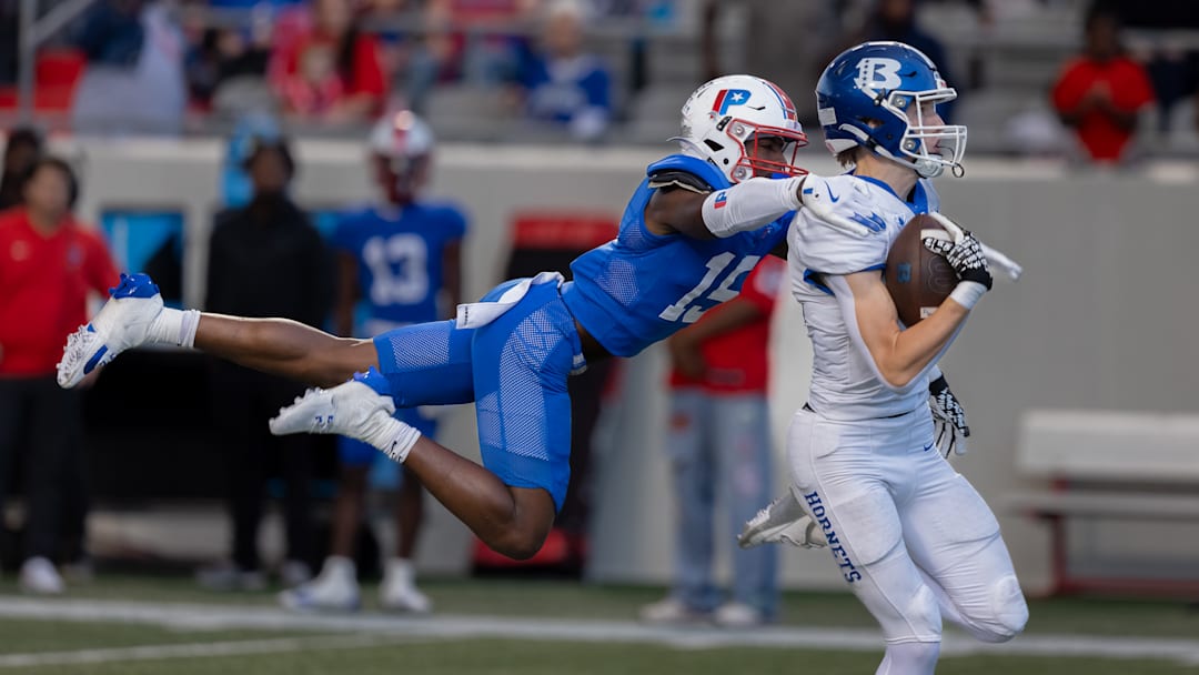
[[[146,275],[121,275],[120,285],[109,293],[112,297],[91,323],[67,337],[58,364],[59,386],[73,387],[118,354],[145,343],[162,314],[162,295]]]

